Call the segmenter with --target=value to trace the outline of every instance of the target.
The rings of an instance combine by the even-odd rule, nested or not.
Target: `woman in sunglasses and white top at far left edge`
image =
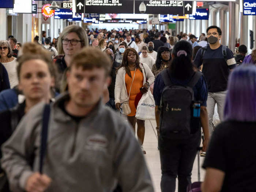
[[[10,43],[8,41],[0,41],[0,63],[2,63],[7,70],[11,88],[19,83],[16,71],[18,63],[16,60],[15,57],[12,57]]]

